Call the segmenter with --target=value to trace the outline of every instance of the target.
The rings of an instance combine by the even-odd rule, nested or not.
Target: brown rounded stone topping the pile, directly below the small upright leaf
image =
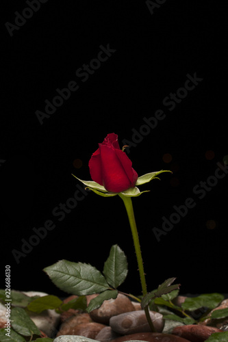
[[[118,293],[115,300],[105,300],[99,308],[91,311],[90,317],[93,321],[108,325],[111,317],[134,310],[131,300],[126,295]]]

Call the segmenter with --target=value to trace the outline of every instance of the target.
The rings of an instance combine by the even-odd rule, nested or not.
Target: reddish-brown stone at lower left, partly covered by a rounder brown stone
[[[56,337],[60,335],[77,335],[75,332],[75,329],[80,324],[87,324],[91,323],[92,319],[90,318],[90,315],[88,313],[77,313],[76,315],[73,315],[66,319],[61,326],[60,331],[58,334],[56,334]]]

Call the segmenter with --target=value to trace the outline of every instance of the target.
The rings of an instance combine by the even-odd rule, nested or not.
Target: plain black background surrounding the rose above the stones
[[[28,5],[1,4],[1,287],[4,267],[11,265],[12,289],[64,295],[44,267],[67,259],[102,271],[118,244],[129,262],[121,289],[140,294],[121,198],[88,193],[61,222],[53,209],[73,196],[79,182],[71,173],[90,179],[88,161],[107,133],[118,134],[122,148],[144,117],[162,109],[164,120],[128,155],[139,175],[173,170],[133,198],[148,289],[176,276],[181,293],[227,293],[228,177],[202,199],[193,192],[228,155],[223,4],[166,0],[150,11],[145,1],[49,0],[12,36],[5,23],[14,24],[15,12]],[[115,52],[82,81],[76,71],[97,58],[101,45]],[[184,86],[187,74],[203,80],[170,111],[164,98]],[[45,100],[70,81],[79,89],[40,124],[36,111],[44,112]],[[157,241],[153,228],[161,229],[162,217],[170,218],[186,198],[195,207]],[[32,229],[47,220],[55,223],[53,231],[16,263],[12,250],[21,251],[21,239],[29,241]]]

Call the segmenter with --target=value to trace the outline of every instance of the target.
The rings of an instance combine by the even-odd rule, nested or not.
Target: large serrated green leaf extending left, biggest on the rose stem
[[[57,287],[73,295],[92,295],[110,288],[101,272],[86,263],[62,260],[44,271]]]

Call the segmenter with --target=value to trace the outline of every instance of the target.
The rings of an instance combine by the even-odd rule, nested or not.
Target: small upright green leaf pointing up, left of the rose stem
[[[107,283],[114,287],[120,286],[127,276],[127,257],[117,245],[112,246],[110,255],[105,261],[103,274]]]

